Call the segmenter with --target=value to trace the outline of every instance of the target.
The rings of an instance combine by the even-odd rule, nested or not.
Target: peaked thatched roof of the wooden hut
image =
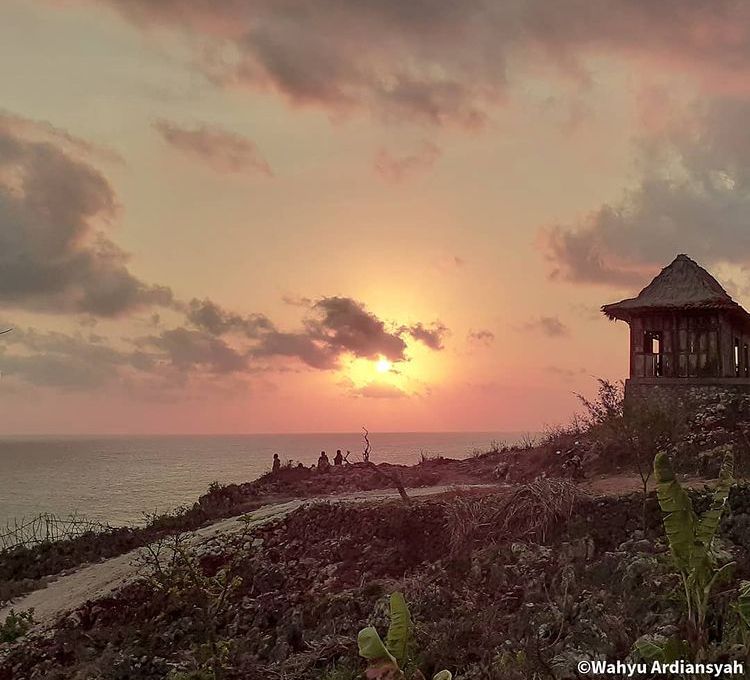
[[[646,286],[638,297],[602,307],[610,319],[628,321],[644,312],[698,309],[724,309],[750,319],[721,284],[687,255],[678,255],[672,264]]]

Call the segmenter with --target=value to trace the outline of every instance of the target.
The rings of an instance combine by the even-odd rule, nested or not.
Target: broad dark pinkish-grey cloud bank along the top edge
[[[620,55],[742,89],[750,70],[750,6],[737,0],[90,1],[190,35],[215,83],[335,115],[476,127],[528,62],[587,82],[587,59]]]

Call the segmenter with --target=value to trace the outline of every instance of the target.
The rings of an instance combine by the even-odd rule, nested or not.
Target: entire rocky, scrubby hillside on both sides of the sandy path
[[[65,573],[102,560],[105,571],[119,560],[128,578],[66,600],[72,611],[60,618],[61,608],[40,607],[46,625],[26,635],[26,619],[0,618],[0,680],[350,680],[363,670],[357,631],[384,630],[395,590],[410,604],[412,656],[428,677],[449,668],[458,680],[573,678],[579,660],[632,657],[642,635],[684,636],[682,585],[653,492],[644,523],[633,452],[650,465],[666,448],[703,507],[698,475],[714,476],[727,450],[738,476],[748,469],[748,405],[707,401],[674,429],[653,414],[623,417],[618,399],[602,383],[585,424],[535,446],[414,466],[288,466],[213,485],[140,529],[5,551],[0,606],[50,578],[50,593],[65,590]],[[571,474],[572,458],[585,479]],[[457,484],[494,488],[445,492]],[[441,495],[417,498],[435,486]],[[377,489],[391,499],[333,502]],[[310,497],[332,500],[292,500]],[[270,523],[216,530],[283,503],[291,512]],[[714,660],[748,655],[735,603],[750,570],[750,488],[735,486],[730,508],[718,548],[736,565],[708,613]]]

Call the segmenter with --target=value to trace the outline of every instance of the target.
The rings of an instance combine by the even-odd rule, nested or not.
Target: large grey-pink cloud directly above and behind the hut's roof
[[[748,116],[750,101],[713,99],[641,140],[641,177],[619,201],[543,230],[552,277],[638,284],[680,252],[708,265],[750,261]]]

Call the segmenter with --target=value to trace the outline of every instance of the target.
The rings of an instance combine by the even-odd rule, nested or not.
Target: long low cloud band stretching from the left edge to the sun
[[[149,318],[148,335],[119,342],[90,330],[84,336],[16,328],[0,343],[0,371],[34,385],[84,389],[148,381],[155,391],[188,380],[283,370],[285,360],[324,371],[338,369],[346,357],[406,361],[402,336],[439,350],[447,332],[439,323],[388,324],[347,297],[306,300],[303,309],[300,326],[282,330],[265,315],[193,299],[175,303],[178,325],[166,328],[161,319]]]

